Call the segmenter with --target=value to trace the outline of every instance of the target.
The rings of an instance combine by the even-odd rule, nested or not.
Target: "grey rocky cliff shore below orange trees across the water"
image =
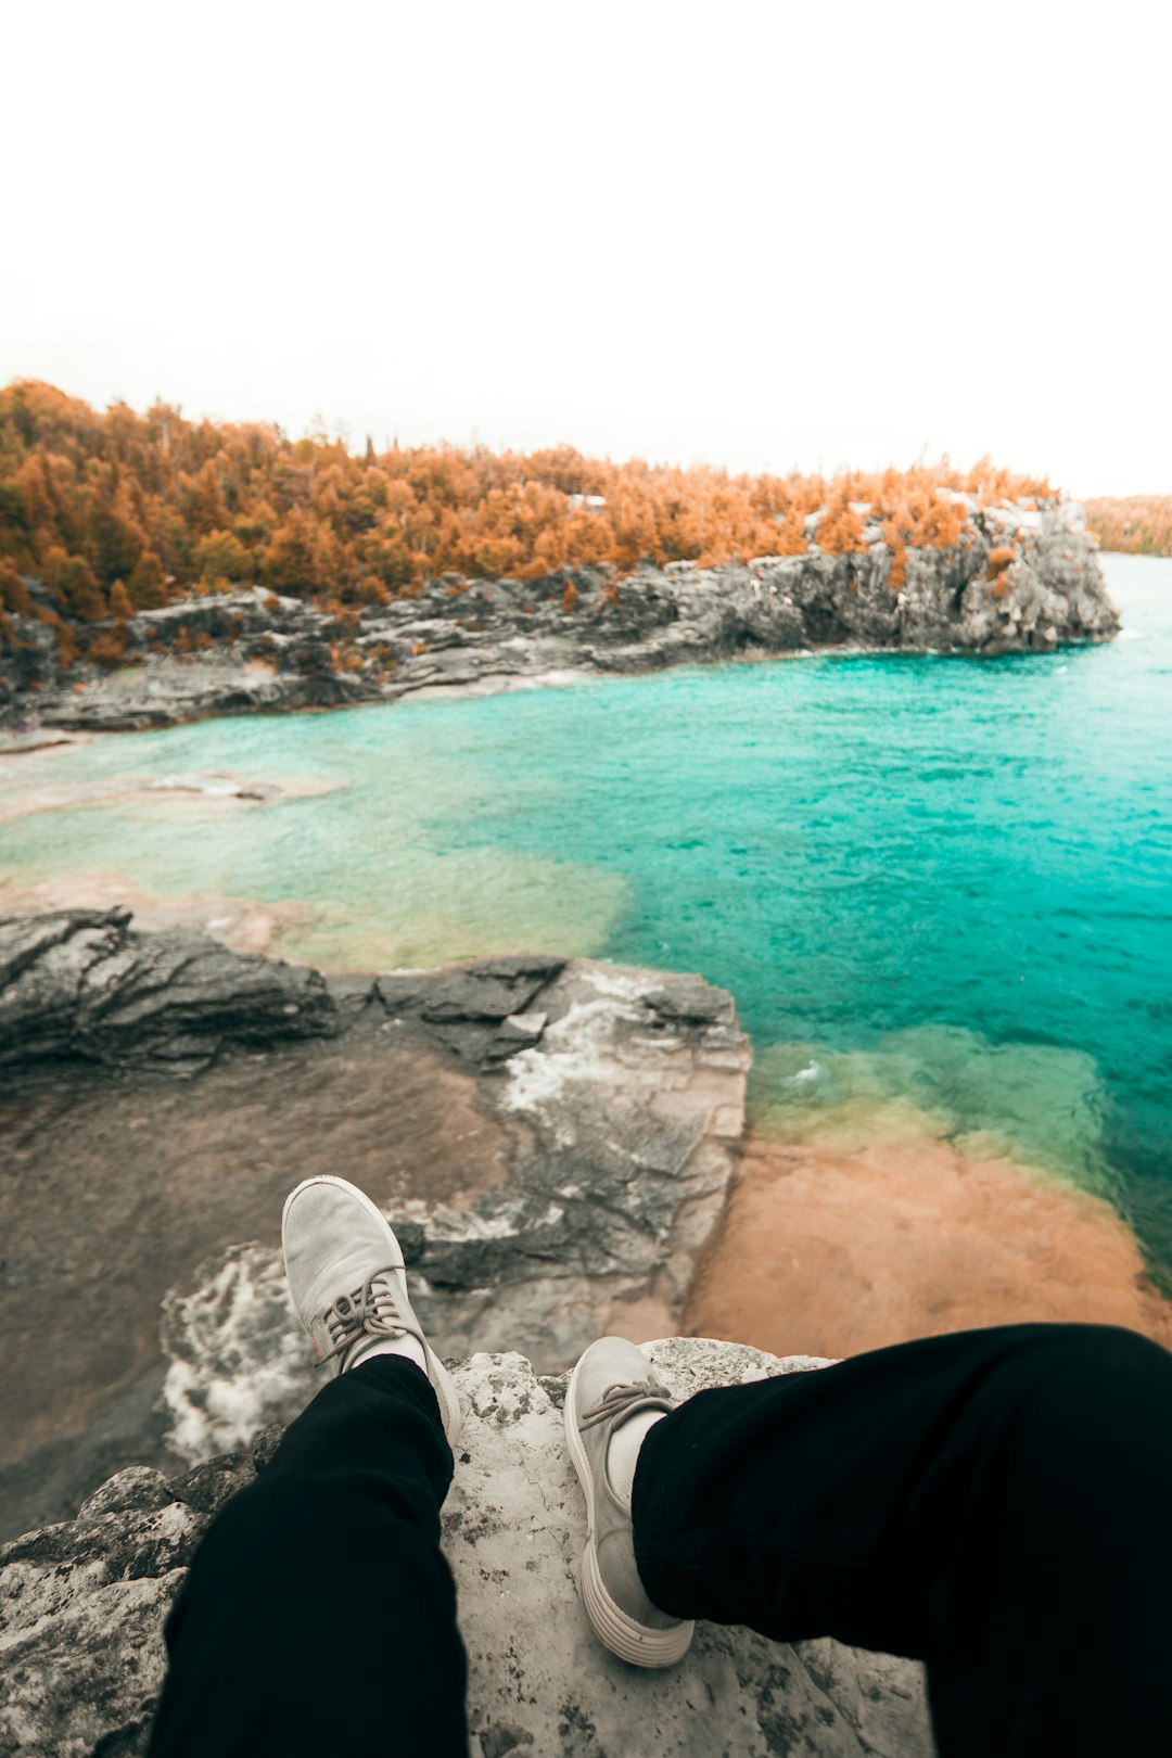
[[[641,672],[815,647],[1049,650],[1119,628],[1082,510],[966,508],[954,548],[914,548],[893,589],[875,520],[847,556],[756,557],[555,573],[538,582],[438,580],[367,607],[357,624],[262,589],[190,598],[127,624],[127,665],[58,670],[53,631],[0,635],[0,723],[119,730],[207,714],[394,701],[425,689],[501,689],[580,672]],[[573,594],[568,594],[573,587]],[[568,608],[568,598],[573,599]],[[177,656],[183,652],[183,657]]]

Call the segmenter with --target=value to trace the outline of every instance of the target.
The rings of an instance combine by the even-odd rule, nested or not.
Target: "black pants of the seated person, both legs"
[[[211,1526],[153,1758],[467,1751],[430,1385],[329,1384]],[[634,1478],[666,1612],[922,1658],[942,1758],[1168,1749],[1172,1355],[1010,1326],[701,1392]]]

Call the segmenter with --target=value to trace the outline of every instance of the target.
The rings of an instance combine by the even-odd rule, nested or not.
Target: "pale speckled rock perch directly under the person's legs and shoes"
[[[680,1338],[648,1355],[682,1398],[819,1366]],[[562,1438],[566,1377],[538,1378],[520,1355],[474,1355],[455,1380],[466,1422],[443,1545],[469,1656],[473,1754],[930,1758],[910,1661],[715,1624],[701,1624],[666,1674],[613,1660],[576,1595],[585,1508]],[[146,1751],[165,1612],[211,1514],[274,1438],[172,1482],[121,1471],[76,1521],[0,1549],[0,1754]]]

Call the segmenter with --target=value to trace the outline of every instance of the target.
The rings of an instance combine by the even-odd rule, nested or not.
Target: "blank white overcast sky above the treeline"
[[[18,0],[0,383],[1170,494],[1170,16]]]

